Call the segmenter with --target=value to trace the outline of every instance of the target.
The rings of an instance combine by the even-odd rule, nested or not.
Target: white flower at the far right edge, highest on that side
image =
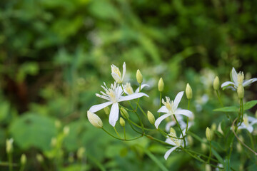
[[[250,80],[245,80],[245,81],[243,81],[242,78],[243,78],[243,73],[241,73],[241,72],[236,73],[235,68],[232,68],[231,81],[226,81],[225,83],[223,83],[221,85],[221,88],[224,89],[224,88],[230,87],[230,88],[233,88],[233,89],[237,89],[238,85],[240,83],[242,83],[243,87],[245,87],[245,86],[248,86],[249,84],[257,81],[257,78],[251,78]]]

